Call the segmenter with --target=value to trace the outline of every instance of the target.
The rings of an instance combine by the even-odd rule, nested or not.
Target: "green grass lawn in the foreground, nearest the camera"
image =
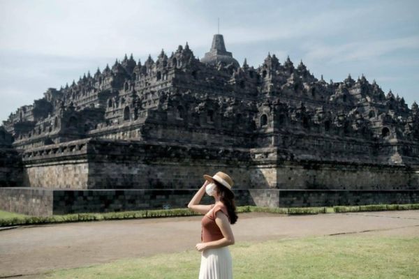
[[[419,278],[419,236],[320,236],[230,246],[234,278]],[[45,273],[45,278],[198,278],[195,250]],[[42,277],[41,277],[42,278]]]

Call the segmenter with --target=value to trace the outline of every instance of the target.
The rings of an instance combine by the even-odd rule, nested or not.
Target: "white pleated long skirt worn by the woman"
[[[202,252],[199,279],[233,279],[233,261],[227,246]]]

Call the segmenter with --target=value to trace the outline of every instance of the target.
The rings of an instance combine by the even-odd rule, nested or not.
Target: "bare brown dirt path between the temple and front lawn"
[[[52,269],[193,250],[200,216],[110,220],[17,227],[0,231],[0,278],[36,278]],[[419,210],[328,213],[314,216],[240,214],[236,243],[331,234],[419,236]]]

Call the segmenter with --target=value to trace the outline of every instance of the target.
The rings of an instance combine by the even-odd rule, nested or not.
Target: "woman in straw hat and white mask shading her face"
[[[227,246],[234,244],[230,224],[238,218],[231,190],[233,180],[223,172],[205,174],[204,178],[205,183],[188,204],[189,209],[205,214],[201,220],[202,243],[196,244],[196,250],[201,252],[199,279],[231,279],[233,265]],[[214,197],[214,204],[199,204],[205,192]]]

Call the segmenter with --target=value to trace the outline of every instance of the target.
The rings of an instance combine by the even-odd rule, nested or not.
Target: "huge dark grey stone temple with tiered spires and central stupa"
[[[214,35],[50,88],[0,127],[0,209],[50,215],[184,207],[222,170],[237,204],[419,202],[419,110],[364,75],[318,80]]]

